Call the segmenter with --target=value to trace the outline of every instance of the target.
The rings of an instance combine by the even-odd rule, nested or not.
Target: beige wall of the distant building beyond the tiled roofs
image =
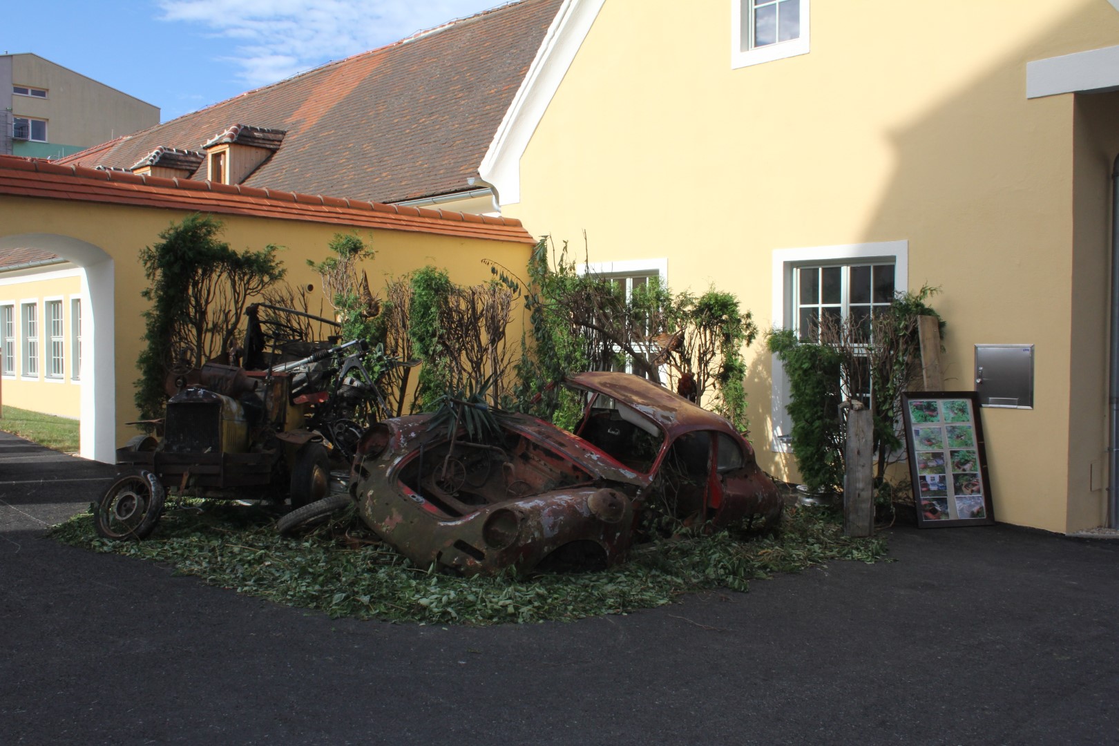
[[[47,120],[51,143],[90,148],[159,124],[159,107],[37,55],[12,55],[13,85],[46,88],[46,98],[12,96],[12,114]]]

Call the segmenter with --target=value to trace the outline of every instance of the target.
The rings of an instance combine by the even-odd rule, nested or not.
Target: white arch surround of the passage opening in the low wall
[[[69,261],[81,270],[82,334],[92,355],[82,359],[81,454],[116,461],[116,371],[113,258],[100,246],[58,234],[0,236],[0,249],[35,247]]]

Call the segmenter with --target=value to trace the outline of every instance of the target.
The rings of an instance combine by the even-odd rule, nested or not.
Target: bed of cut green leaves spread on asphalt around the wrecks
[[[352,509],[300,538],[274,528],[275,513],[217,501],[172,501],[144,541],[101,539],[90,514],[51,529],[76,547],[170,565],[211,585],[279,604],[421,624],[572,621],[673,603],[684,593],[731,588],[834,559],[883,559],[883,537],[852,539],[819,509],[787,509],[775,536],[720,531],[637,548],[596,573],[458,577],[419,568],[355,520]]]

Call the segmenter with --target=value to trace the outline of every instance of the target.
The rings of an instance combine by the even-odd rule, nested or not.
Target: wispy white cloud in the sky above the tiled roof
[[[161,20],[204,27],[233,44],[250,86],[391,44],[502,0],[158,0]]]

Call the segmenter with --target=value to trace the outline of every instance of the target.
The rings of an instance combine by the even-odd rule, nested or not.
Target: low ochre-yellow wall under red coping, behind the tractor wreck
[[[103,248],[114,258],[115,284],[115,398],[116,441],[123,443],[139,433],[124,423],[138,418],[133,404],[135,367],[143,333],[142,313],[148,302],[140,296],[147,287],[138,252],[159,240],[158,234],[186,217],[188,213],[140,207],[59,202],[57,200],[8,198],[0,204],[0,237],[3,235],[49,233],[70,236]],[[242,216],[218,216],[225,224],[220,239],[233,248],[262,248],[266,244],[283,246],[280,258],[288,268],[286,281],[292,286],[313,284],[319,291],[320,278],[307,265],[307,259],[322,261],[327,244],[336,233],[348,233],[347,226],[301,223]],[[530,246],[510,242],[458,238],[402,230],[358,230],[376,256],[365,264],[373,292],[384,286],[384,280],[433,265],[448,270],[451,278],[462,284],[489,282],[492,278],[483,258],[505,266],[525,266]],[[329,304],[325,303],[329,309]],[[515,318],[510,338],[520,333],[524,320]],[[4,381],[7,386],[7,381]]]

